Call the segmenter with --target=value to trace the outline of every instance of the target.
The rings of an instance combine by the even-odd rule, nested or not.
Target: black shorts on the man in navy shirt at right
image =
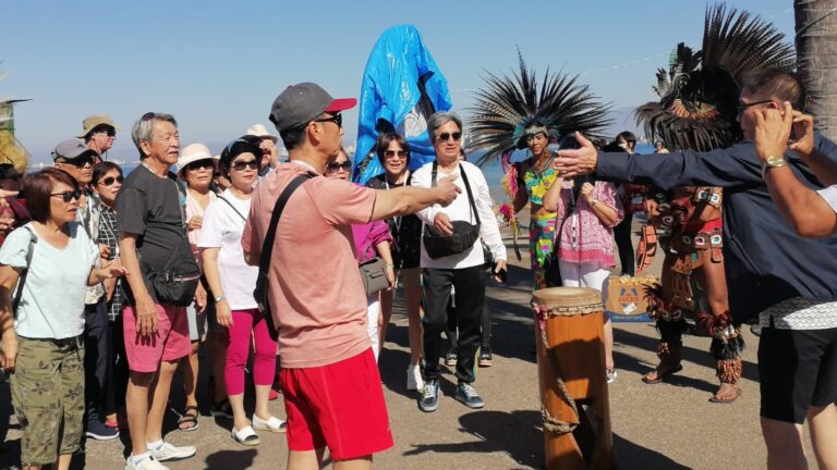
[[[837,329],[762,327],[761,416],[802,424],[810,407],[837,401]]]

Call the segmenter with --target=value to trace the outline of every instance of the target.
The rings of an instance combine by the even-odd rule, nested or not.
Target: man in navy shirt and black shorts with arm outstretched
[[[761,422],[769,469],[806,469],[802,424],[811,426],[821,468],[837,468],[837,235],[803,238],[776,209],[765,175],[787,166],[810,188],[823,184],[806,164],[805,149],[764,163],[753,143],[756,116],[785,101],[801,109],[803,90],[785,72],[759,71],[744,79],[739,123],[744,140],[709,152],[666,156],[598,153],[578,136],[579,150],[560,150],[555,166],[565,177],[593,173],[602,180],[663,188],[724,188],[724,259],[732,317],[759,316]],[[808,152],[830,161],[837,146],[818,135]],[[800,154],[802,153],[802,154]],[[769,181],[771,175],[766,176]]]

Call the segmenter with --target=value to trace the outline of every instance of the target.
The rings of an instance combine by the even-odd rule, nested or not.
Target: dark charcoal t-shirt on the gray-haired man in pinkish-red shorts
[[[145,165],[128,175],[117,195],[120,233],[138,235],[142,264],[163,272],[166,261],[186,238],[185,191],[178,189],[174,173],[159,177]]]

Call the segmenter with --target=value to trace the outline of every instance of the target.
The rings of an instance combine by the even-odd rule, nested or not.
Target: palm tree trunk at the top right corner
[[[805,88],[805,111],[816,128],[837,141],[837,0],[793,0],[797,70]]]

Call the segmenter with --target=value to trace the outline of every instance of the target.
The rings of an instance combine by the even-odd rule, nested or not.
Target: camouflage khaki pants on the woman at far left
[[[12,405],[23,430],[21,463],[52,463],[78,450],[84,416],[84,341],[17,336]]]

